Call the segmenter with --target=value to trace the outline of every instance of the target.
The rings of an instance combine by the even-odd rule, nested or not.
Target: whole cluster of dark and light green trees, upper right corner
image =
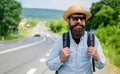
[[[97,29],[100,24],[116,25],[120,21],[120,0],[100,0],[90,8],[92,17],[87,21],[87,29]]]

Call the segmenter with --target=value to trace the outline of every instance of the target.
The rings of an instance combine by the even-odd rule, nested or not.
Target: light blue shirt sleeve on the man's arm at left
[[[59,37],[56,42],[53,45],[52,51],[50,53],[50,56],[48,57],[46,64],[49,67],[50,70],[58,70],[59,67],[63,64],[60,61],[60,51],[62,48],[62,42],[61,37]]]

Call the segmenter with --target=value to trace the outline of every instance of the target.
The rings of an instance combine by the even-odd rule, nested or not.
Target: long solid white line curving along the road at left
[[[1,51],[0,54],[4,54],[4,53],[7,53],[7,52],[12,52],[12,51],[20,50],[20,49],[26,48],[26,47],[30,47],[30,46],[39,44],[39,43],[41,43],[41,42],[44,42],[45,40],[46,40],[46,38],[44,37],[43,40],[41,40],[41,41],[39,41],[39,42],[35,42],[35,43],[23,45],[23,46],[16,47],[16,48],[12,48],[12,49],[7,49],[7,50],[5,50],[5,51]]]

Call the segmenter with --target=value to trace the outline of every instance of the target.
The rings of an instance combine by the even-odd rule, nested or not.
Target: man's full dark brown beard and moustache
[[[77,28],[77,26],[81,26],[81,28]],[[74,26],[70,26],[70,29],[71,29],[72,36],[75,39],[81,38],[81,36],[83,36],[85,32],[85,26],[79,23],[75,24]]]

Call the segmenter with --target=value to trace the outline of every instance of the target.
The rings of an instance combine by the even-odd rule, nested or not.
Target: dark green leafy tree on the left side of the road
[[[16,0],[0,1],[0,36],[5,37],[17,29],[22,7]]]

